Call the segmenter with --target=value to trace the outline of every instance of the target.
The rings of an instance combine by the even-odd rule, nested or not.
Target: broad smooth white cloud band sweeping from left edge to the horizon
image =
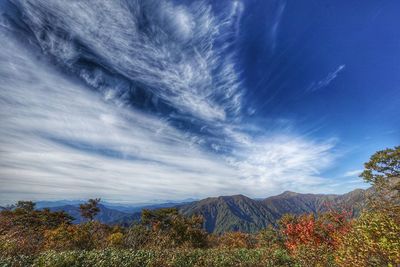
[[[106,103],[7,41],[0,53],[3,201],[26,192],[39,198],[181,198],[199,192],[199,183],[215,193],[235,183],[227,164],[184,133]]]

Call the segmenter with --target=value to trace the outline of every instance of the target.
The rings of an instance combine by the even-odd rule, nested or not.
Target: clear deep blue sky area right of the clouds
[[[284,117],[314,138],[338,138],[344,155],[326,172],[338,178],[399,143],[400,3],[250,1],[247,7],[240,49],[257,115]],[[263,9],[279,18],[272,21],[275,33],[257,27]]]

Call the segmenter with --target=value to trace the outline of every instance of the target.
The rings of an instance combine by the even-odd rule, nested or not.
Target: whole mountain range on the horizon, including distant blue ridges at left
[[[371,189],[356,189],[343,195],[301,194],[286,191],[265,199],[251,199],[244,195],[210,197],[191,202],[167,202],[152,205],[118,205],[102,203],[96,219],[107,224],[130,225],[140,220],[142,209],[176,207],[183,215],[202,215],[207,232],[220,234],[226,231],[256,232],[268,225],[275,225],[284,214],[303,214],[327,211],[330,208],[345,208],[357,216],[366,203]],[[61,204],[63,202],[58,202]],[[66,203],[66,202],[64,202]],[[81,202],[57,205],[53,202],[38,202],[38,208],[48,207],[54,211],[64,210],[80,223]]]

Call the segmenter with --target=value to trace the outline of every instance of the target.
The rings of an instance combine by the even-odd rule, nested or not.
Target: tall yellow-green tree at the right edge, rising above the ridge
[[[400,266],[400,146],[371,156],[360,175],[373,185],[368,209],[344,236],[340,266]]]

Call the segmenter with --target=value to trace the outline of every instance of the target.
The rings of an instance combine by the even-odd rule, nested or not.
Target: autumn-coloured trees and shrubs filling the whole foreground
[[[400,147],[377,152],[362,176],[374,187],[357,219],[349,211],[285,215],[255,233],[207,234],[200,216],[144,210],[140,224],[85,223],[18,202],[0,213],[0,266],[399,266]]]

